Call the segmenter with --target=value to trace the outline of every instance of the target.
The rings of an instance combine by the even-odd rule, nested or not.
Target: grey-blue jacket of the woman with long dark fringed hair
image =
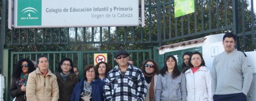
[[[159,74],[155,89],[155,101],[186,101],[186,78],[183,73],[173,79],[166,71],[164,77]]]

